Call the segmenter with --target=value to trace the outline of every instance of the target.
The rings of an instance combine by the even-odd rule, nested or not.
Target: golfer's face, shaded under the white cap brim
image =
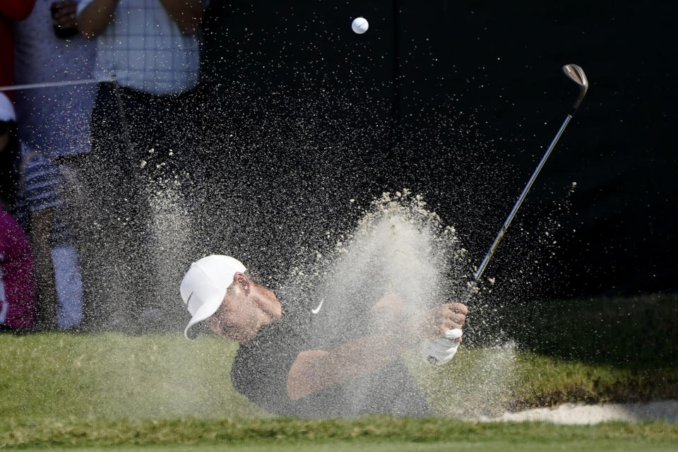
[[[245,295],[228,293],[220,308],[208,319],[208,325],[222,338],[245,343],[258,331],[256,305]]]

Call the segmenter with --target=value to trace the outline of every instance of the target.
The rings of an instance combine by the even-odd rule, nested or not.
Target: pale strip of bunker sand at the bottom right
[[[678,400],[649,403],[564,403],[554,408],[535,408],[506,412],[499,417],[484,417],[483,421],[543,421],[554,424],[597,424],[599,422],[664,420],[678,422]]]

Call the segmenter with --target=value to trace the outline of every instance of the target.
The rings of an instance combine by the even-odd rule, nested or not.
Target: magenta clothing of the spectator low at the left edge
[[[35,280],[28,237],[0,206],[0,325],[31,330]]]

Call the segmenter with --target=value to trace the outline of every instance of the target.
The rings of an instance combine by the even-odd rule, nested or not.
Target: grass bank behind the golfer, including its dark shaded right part
[[[678,328],[673,326],[678,316],[672,316],[677,306],[674,295],[545,304],[544,330],[535,335],[525,328],[522,335],[513,335],[517,345],[509,341],[502,347],[461,347],[442,367],[424,365],[413,354],[405,356],[436,415],[492,415],[506,408],[574,401],[678,398]],[[607,320],[600,321],[592,314],[595,310]],[[524,316],[534,325],[537,320],[530,316],[537,314],[528,312]],[[569,328],[566,336],[549,327],[549,319],[569,324],[580,315],[588,320],[581,320],[581,328]],[[618,334],[612,327],[590,325],[616,325],[619,316],[635,320]],[[665,325],[658,326],[658,316]],[[617,336],[623,347],[614,346]],[[624,355],[631,343],[637,359]],[[597,355],[601,347],[610,350],[605,358]],[[189,342],[179,334],[1,334],[0,420],[266,416],[230,384],[236,350],[234,343],[210,336]],[[582,358],[575,359],[573,350]]]

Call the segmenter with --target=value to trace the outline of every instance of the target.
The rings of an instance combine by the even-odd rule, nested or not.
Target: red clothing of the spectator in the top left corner
[[[0,86],[14,83],[14,39],[12,22],[23,20],[33,10],[35,0],[0,0]],[[12,91],[6,95],[13,100]]]

